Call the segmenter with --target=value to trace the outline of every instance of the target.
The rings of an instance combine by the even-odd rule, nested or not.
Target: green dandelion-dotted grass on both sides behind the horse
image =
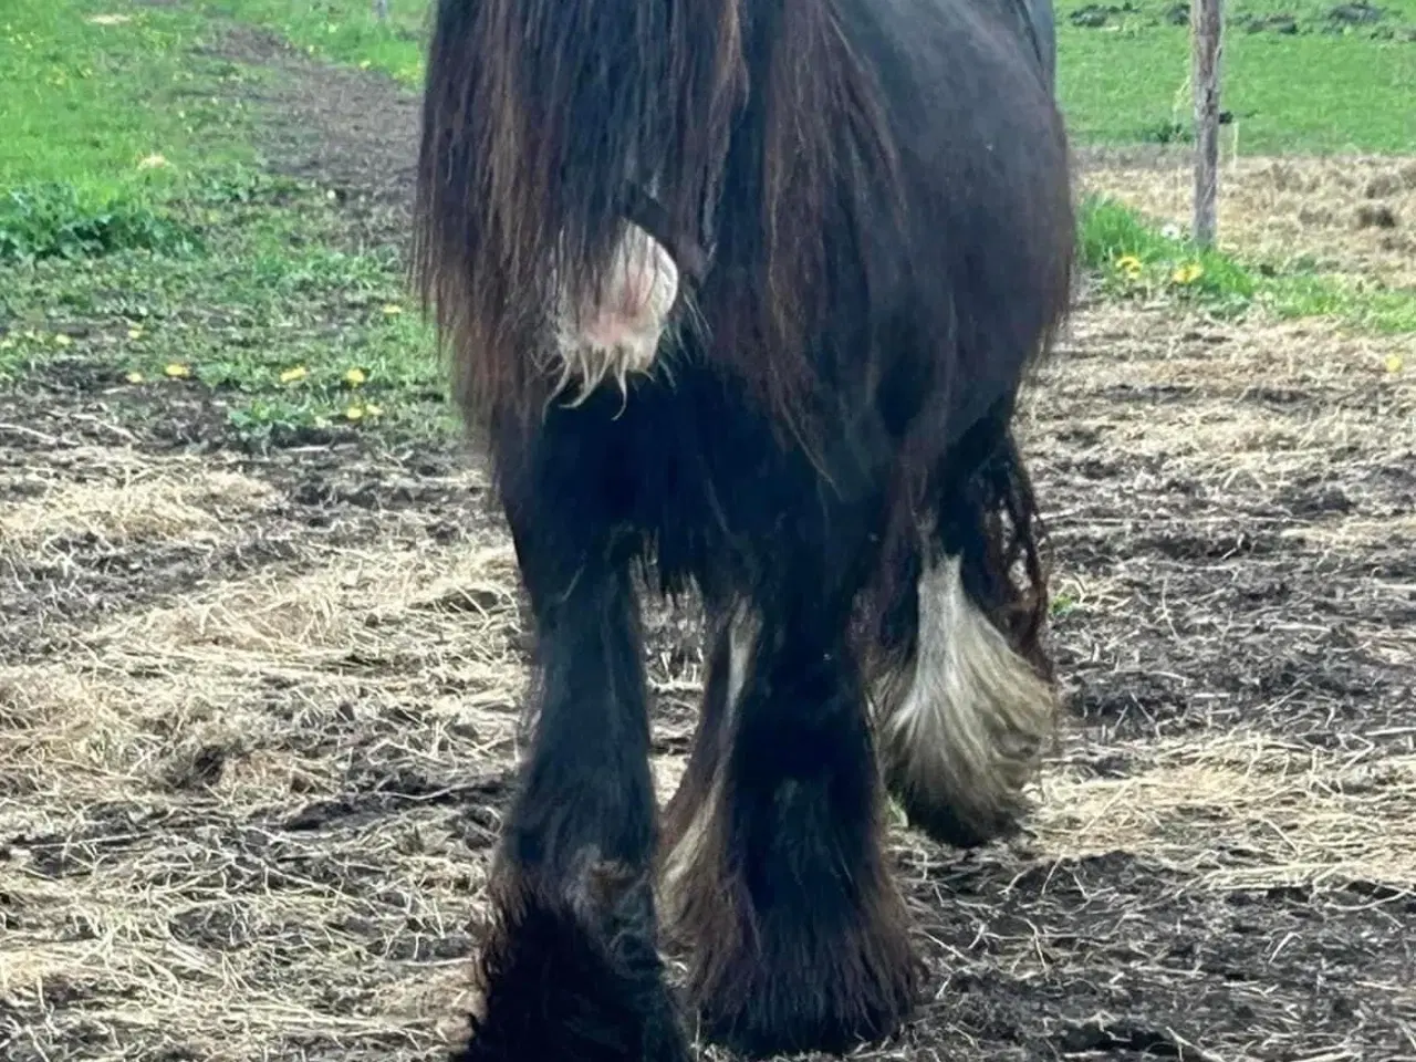
[[[340,190],[282,171],[279,160],[258,161],[251,112],[279,95],[279,76],[221,54],[210,40],[212,18],[239,20],[307,55],[415,86],[426,4],[391,7],[391,21],[379,24],[362,0],[132,10],[98,0],[14,0],[0,23],[13,58],[0,68],[0,375],[62,354],[110,364],[136,388],[198,381],[217,389],[232,429],[253,442],[270,432],[329,438],[374,422],[450,426],[429,337],[402,313],[404,278],[389,234],[341,239]],[[1286,147],[1300,152],[1399,146],[1412,132],[1409,109],[1379,102],[1412,88],[1413,50],[1400,37],[1410,11],[1386,7],[1376,23],[1344,25],[1345,34],[1325,33],[1332,21],[1315,7],[1298,8],[1293,35],[1240,28],[1279,10],[1256,3],[1231,11],[1231,95],[1242,116],[1231,129],[1246,150],[1259,150],[1273,130],[1284,130]],[[1062,95],[1080,143],[1170,136],[1163,126],[1178,113],[1171,96],[1182,89],[1185,42],[1165,13],[1160,4],[1059,8]],[[1306,95],[1263,88],[1286,84],[1297,62],[1291,48],[1325,50],[1321,62],[1307,65],[1314,76]],[[1347,55],[1359,58],[1344,65]],[[1165,68],[1178,71],[1174,86],[1155,75]],[[1331,86],[1323,82],[1328,76]],[[1274,103],[1255,109],[1246,93],[1267,93]],[[1247,159],[1232,167],[1239,164]],[[1201,276],[1175,283],[1195,272],[1195,255],[1158,227],[1182,225],[1184,207],[1155,210],[1151,195],[1138,204],[1151,211],[1146,224],[1117,217],[1117,202],[1130,197],[1137,205],[1137,183],[1157,191],[1154,174],[1099,173],[1093,190],[1109,198],[1083,217],[1087,262],[1114,295],[1198,299],[1226,314],[1257,307],[1379,331],[1416,329],[1409,276],[1351,275],[1318,251],[1330,235],[1321,229],[1351,228],[1345,217],[1297,242],[1236,242],[1226,224],[1222,253],[1206,255]],[[1408,191],[1403,180],[1398,185]],[[1386,238],[1388,258],[1410,252],[1409,238]],[[351,309],[360,313],[351,317]]]

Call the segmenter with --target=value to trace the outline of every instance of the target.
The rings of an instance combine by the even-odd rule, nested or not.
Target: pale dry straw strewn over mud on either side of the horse
[[[1298,891],[1324,919],[1351,920],[1366,918],[1354,909],[1399,909],[1416,889],[1416,728],[1364,722],[1359,701],[1321,685],[1266,692],[1259,673],[1264,646],[1413,673],[1410,632],[1383,620],[1409,578],[1362,573],[1393,562],[1403,549],[1393,542],[1412,530],[1383,472],[1416,442],[1391,416],[1410,402],[1409,384],[1372,368],[1385,350],[1376,341],[1318,326],[1099,309],[1079,317],[1070,343],[1079,357],[1048,370],[1024,433],[1054,517],[1066,605],[1056,639],[1080,719],[1063,729],[1018,844],[960,861],[895,831],[940,987],[920,1028],[935,1012],[944,1027],[885,1055],[987,1044],[998,1021],[1021,1022],[1031,1044],[1089,1042],[1154,1020],[1170,1029],[1157,1042],[1276,1058],[1304,1042],[1306,1018],[1260,1010],[1240,1022],[1267,1029],[1267,1046],[1245,1046],[1222,1024],[1184,1025],[1197,974],[1164,956],[1187,925],[1218,926],[1228,895]],[[287,504],[280,476],[261,469],[197,474],[136,450],[92,467],[106,470],[96,483],[27,467],[45,493],[11,510],[21,514],[7,524],[13,558],[42,555],[99,520],[112,548],[140,552],[225,534],[232,514],[259,524]],[[1303,498],[1321,501],[1324,490],[1342,504],[1303,515]],[[91,501],[105,491],[119,503]],[[422,520],[402,508],[355,544],[312,530],[293,568],[152,599],[79,632],[62,658],[0,670],[0,913],[17,942],[0,950],[0,1021],[28,1052],[16,1058],[445,1049],[470,1005],[486,854],[520,749],[527,643],[500,528],[449,541],[429,538]],[[1253,554],[1243,534],[1270,552]],[[1315,582],[1324,571],[1330,582]],[[1298,592],[1242,603],[1233,588],[1263,572]],[[1335,585],[1365,605],[1340,620],[1341,649],[1323,649]],[[650,656],[667,796],[701,664],[658,613]],[[1257,668],[1255,694],[1243,674],[1226,687],[1216,667]],[[1175,700],[1147,701],[1168,670],[1184,680]],[[1127,704],[1104,707],[1110,688]],[[1325,731],[1313,712],[1330,714]],[[1260,929],[1272,970],[1331,947],[1287,915],[1263,918],[1277,919]],[[1131,936],[1114,925],[1131,925]],[[1382,1028],[1399,1028],[1413,1005],[1393,973],[1402,960],[1385,930],[1352,932]],[[1078,950],[1083,940],[1093,944]],[[1129,960],[1126,949],[1148,957]],[[970,978],[997,987],[978,997]],[[1110,994],[1143,984],[1151,1003],[1100,1022],[1065,1003],[1059,1012],[1072,1017],[1061,1025],[1045,1007],[1004,1017],[1017,1005],[1007,1000],[1045,1000],[1052,990],[1038,988],[1076,978],[1112,984]],[[1255,998],[1242,1005],[1262,1007]],[[1351,1031],[1311,1042],[1357,1044],[1352,1056],[1365,1058]]]

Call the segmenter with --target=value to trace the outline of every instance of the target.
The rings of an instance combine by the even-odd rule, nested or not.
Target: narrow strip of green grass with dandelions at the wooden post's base
[[[1279,317],[1337,317],[1382,333],[1416,331],[1416,292],[1379,290],[1304,269],[1198,248],[1106,197],[1079,211],[1082,263],[1117,297],[1199,302],[1221,314],[1263,307]]]

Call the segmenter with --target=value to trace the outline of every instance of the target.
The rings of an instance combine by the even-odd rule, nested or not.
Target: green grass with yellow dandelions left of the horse
[[[139,389],[211,388],[252,436],[440,430],[443,371],[392,249],[344,251],[338,204],[253,166],[201,14],[11,0],[0,17],[0,387],[55,358]],[[395,0],[396,7],[396,0]],[[48,71],[48,75],[45,72]],[[160,156],[160,160],[156,159]]]

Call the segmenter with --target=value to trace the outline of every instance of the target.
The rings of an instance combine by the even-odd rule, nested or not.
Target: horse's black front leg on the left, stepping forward
[[[504,477],[539,714],[493,872],[483,1007],[459,1062],[678,1062],[657,950],[639,609],[595,469],[561,440]]]

